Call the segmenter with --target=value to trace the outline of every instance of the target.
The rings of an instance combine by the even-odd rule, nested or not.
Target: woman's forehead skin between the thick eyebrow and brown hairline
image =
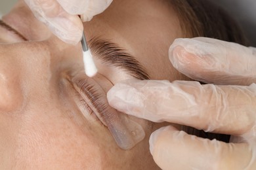
[[[182,31],[179,18],[168,1],[113,1],[84,27],[87,39],[100,36],[125,48],[140,61],[151,78],[171,76],[173,67],[168,49],[175,38],[182,37]]]

